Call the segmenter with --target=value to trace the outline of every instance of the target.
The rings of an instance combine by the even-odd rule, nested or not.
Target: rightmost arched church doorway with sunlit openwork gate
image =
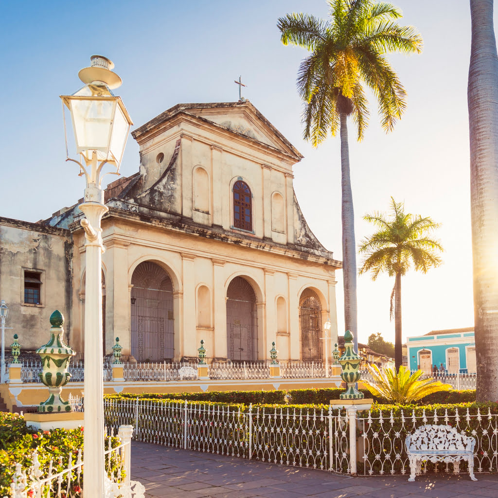
[[[305,289],[299,298],[299,331],[301,360],[321,362],[322,357],[322,305],[315,291]]]

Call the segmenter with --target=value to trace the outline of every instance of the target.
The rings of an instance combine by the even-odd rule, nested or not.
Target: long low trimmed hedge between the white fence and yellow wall
[[[214,403],[285,404],[285,391],[210,391],[176,392],[169,394],[121,394],[123,398],[186,399],[188,401],[212,401]]]

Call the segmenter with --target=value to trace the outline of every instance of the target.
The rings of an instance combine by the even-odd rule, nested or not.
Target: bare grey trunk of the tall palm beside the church
[[[349,171],[348,116],[341,116],[341,186],[342,186],[342,245],[344,282],[344,325],[353,333],[354,348],[358,352],[358,306],[356,302],[356,242],[355,214],[351,176]]]

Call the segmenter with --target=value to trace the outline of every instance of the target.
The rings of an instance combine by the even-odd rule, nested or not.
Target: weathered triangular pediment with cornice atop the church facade
[[[302,158],[301,153],[249,101],[178,104],[134,130],[132,135],[136,139],[180,113],[198,117],[239,136],[281,150],[297,160]]]

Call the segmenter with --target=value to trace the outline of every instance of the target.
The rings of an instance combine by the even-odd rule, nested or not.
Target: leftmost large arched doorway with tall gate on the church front
[[[140,263],[131,277],[131,354],[139,362],[174,356],[173,284],[158,264]]]

